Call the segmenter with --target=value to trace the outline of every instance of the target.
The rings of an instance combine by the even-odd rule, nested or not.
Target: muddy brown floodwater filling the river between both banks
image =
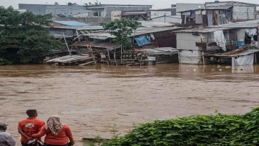
[[[17,124],[37,109],[58,114],[81,138],[122,135],[133,124],[191,114],[244,114],[259,105],[259,66],[0,66],[0,122],[19,140]],[[20,145],[20,142],[18,142]]]

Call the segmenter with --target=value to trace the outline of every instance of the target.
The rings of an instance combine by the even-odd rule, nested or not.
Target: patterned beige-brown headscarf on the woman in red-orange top
[[[58,135],[58,133],[61,132],[62,127],[63,124],[61,124],[61,119],[56,115],[49,117],[48,121],[46,121],[45,128],[49,128],[53,135]]]

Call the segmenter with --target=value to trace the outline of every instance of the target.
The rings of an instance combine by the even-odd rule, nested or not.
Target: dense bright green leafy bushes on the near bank
[[[259,107],[246,114],[196,115],[141,124],[103,146],[259,145]]]

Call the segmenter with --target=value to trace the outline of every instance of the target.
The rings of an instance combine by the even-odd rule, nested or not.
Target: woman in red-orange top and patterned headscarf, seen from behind
[[[32,135],[34,138],[45,135],[44,146],[68,146],[74,145],[71,130],[67,124],[61,124],[61,119],[53,115],[46,121],[46,126],[39,133]],[[68,139],[70,142],[68,142]]]

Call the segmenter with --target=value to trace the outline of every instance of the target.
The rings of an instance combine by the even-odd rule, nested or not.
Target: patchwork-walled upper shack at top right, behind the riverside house
[[[222,25],[228,22],[255,20],[258,18],[259,5],[237,1],[206,2],[205,7],[181,11],[182,25],[203,27]]]

